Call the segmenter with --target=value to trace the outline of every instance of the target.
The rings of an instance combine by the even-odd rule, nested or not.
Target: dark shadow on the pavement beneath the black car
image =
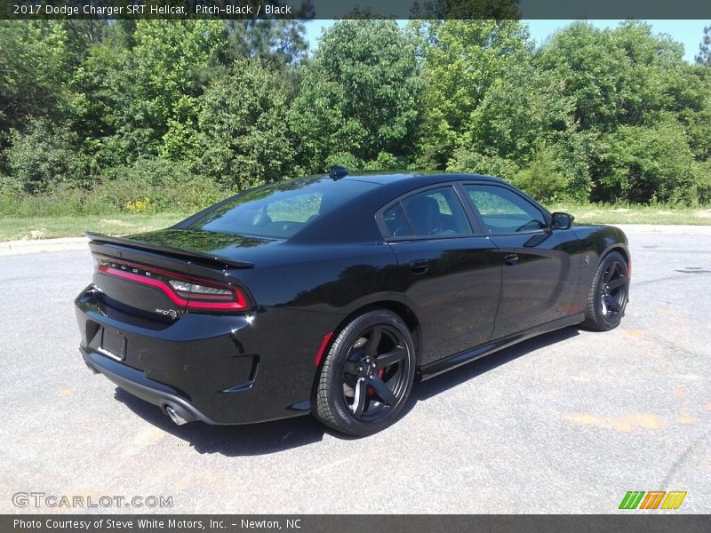
[[[577,327],[546,333],[503,349],[496,354],[483,357],[478,361],[469,362],[457,370],[445,372],[422,383],[415,383],[410,401],[403,410],[403,416],[406,416],[417,402],[427,401],[436,394],[459,386],[469,379],[476,378],[484,372],[529,354],[533,350],[553,345],[578,334]],[[319,442],[323,440],[324,434],[341,440],[355,438],[333,432],[310,416],[241,426],[210,426],[202,422],[176,426],[155,405],[143,402],[120,388],[116,388],[115,398],[140,418],[188,442],[190,447],[201,454],[220,453],[227,457],[263,455]]]

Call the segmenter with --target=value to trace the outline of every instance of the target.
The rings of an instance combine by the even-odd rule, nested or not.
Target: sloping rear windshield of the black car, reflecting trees
[[[236,195],[188,229],[288,239],[375,184],[351,179],[294,179]]]

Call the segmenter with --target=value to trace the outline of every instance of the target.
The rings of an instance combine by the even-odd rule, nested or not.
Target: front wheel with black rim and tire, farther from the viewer
[[[587,294],[585,326],[608,331],[619,326],[629,295],[627,261],[619,251],[611,251],[600,261]]]

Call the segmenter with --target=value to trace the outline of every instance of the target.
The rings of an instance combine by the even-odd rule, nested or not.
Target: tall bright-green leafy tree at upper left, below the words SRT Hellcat
[[[74,72],[76,131],[92,165],[148,155],[178,160],[189,147],[202,84],[197,73],[224,48],[220,20],[116,21]]]

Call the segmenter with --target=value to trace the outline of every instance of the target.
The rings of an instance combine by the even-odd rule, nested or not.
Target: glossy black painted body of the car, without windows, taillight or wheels
[[[331,180],[328,176],[310,178]],[[238,424],[308,413],[324,336],[364,310],[400,314],[427,378],[523,338],[582,322],[599,259],[629,259],[614,227],[548,227],[489,235],[461,184],[498,179],[461,174],[364,174],[334,179],[377,185],[289,239],[174,227],[118,239],[91,234],[95,256],[228,284],[244,293],[238,313],[186,311],[153,287],[94,274],[76,298],[84,360],[148,402],[183,418]],[[425,187],[458,191],[468,235],[387,238],[380,214]],[[282,186],[280,186],[282,187]],[[300,187],[299,180],[283,187]],[[227,202],[227,201],[226,201]],[[157,310],[161,310],[158,312]],[[172,317],[174,314],[174,318]],[[125,339],[118,362],[100,351],[103,330]],[[326,346],[326,349],[328,346]]]

